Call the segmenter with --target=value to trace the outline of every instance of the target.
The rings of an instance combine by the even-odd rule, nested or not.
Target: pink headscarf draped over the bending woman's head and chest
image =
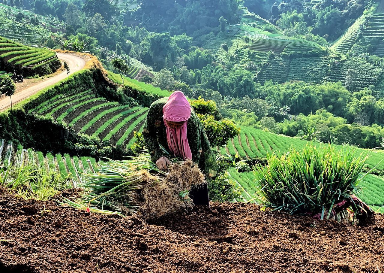
[[[189,120],[190,116],[191,106],[184,94],[181,91],[172,93],[163,107],[163,119],[166,126],[169,150],[182,159],[192,159],[192,152],[187,139],[187,120]],[[169,127],[166,120],[184,122],[184,124],[173,129]]]

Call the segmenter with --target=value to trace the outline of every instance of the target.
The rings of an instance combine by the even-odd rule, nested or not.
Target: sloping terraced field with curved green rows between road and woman
[[[142,128],[148,108],[120,105],[96,97],[92,90],[74,95],[56,95],[29,111],[33,115],[53,117],[78,133],[98,136],[112,145],[126,146],[134,131]]]

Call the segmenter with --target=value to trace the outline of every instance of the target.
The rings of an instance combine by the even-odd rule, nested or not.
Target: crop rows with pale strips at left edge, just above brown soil
[[[22,164],[36,166],[46,172],[59,171],[61,176],[74,187],[81,183],[83,173],[93,173],[97,165],[96,160],[92,157],[74,156],[71,158],[68,154],[61,155],[60,153],[44,155],[41,151],[35,151],[32,148],[24,149],[22,146],[16,148],[12,141],[7,142],[0,139],[0,166],[21,166]]]

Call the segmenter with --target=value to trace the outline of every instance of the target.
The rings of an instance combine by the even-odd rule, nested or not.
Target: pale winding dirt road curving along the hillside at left
[[[57,56],[61,62],[68,63],[70,67],[70,75],[76,71],[84,68],[86,61],[74,54],[68,53],[57,53]],[[23,83],[16,84],[15,95],[12,96],[12,105],[15,105],[22,100],[29,98],[31,95],[36,94],[40,90],[49,87],[67,77],[66,70],[63,72],[56,72],[52,77],[46,78],[45,80],[26,79]],[[0,111],[3,111],[11,107],[11,100],[9,97],[0,98]]]

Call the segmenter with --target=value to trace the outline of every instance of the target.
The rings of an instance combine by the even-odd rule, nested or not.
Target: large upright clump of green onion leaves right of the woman
[[[357,148],[306,145],[278,157],[268,155],[267,166],[255,166],[258,201],[287,213],[322,213],[350,198],[366,174],[367,153]],[[355,208],[354,208],[355,209]]]

